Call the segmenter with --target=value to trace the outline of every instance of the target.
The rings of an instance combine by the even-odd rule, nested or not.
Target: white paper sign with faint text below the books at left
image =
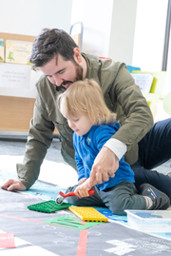
[[[0,63],[0,88],[29,89],[31,67]]]

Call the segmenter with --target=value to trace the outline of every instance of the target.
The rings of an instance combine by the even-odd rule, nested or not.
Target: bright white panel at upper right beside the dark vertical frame
[[[167,0],[139,0],[133,66],[161,71]]]

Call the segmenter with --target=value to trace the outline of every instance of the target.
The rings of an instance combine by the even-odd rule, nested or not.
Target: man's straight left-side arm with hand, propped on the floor
[[[48,119],[47,109],[37,95],[33,118],[30,122],[28,142],[23,164],[17,164],[18,180],[9,180],[2,188],[7,190],[25,190],[31,187],[38,179],[40,167],[47,154],[54,125]]]

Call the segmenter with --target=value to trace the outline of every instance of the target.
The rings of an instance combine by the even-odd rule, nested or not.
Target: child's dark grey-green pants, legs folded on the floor
[[[68,187],[66,193],[74,191],[77,186]],[[146,200],[142,195],[137,194],[133,183],[125,181],[104,191],[96,186],[92,188],[95,190],[94,195],[81,199],[77,196],[67,197],[67,202],[77,207],[108,207],[118,215],[125,215],[124,209],[146,209]]]

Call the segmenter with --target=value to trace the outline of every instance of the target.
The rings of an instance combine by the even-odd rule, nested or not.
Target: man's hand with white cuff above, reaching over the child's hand
[[[103,147],[95,158],[94,165],[91,169],[89,176],[89,188],[96,184],[107,182],[110,177],[113,178],[118,168],[118,157],[112,150]]]

